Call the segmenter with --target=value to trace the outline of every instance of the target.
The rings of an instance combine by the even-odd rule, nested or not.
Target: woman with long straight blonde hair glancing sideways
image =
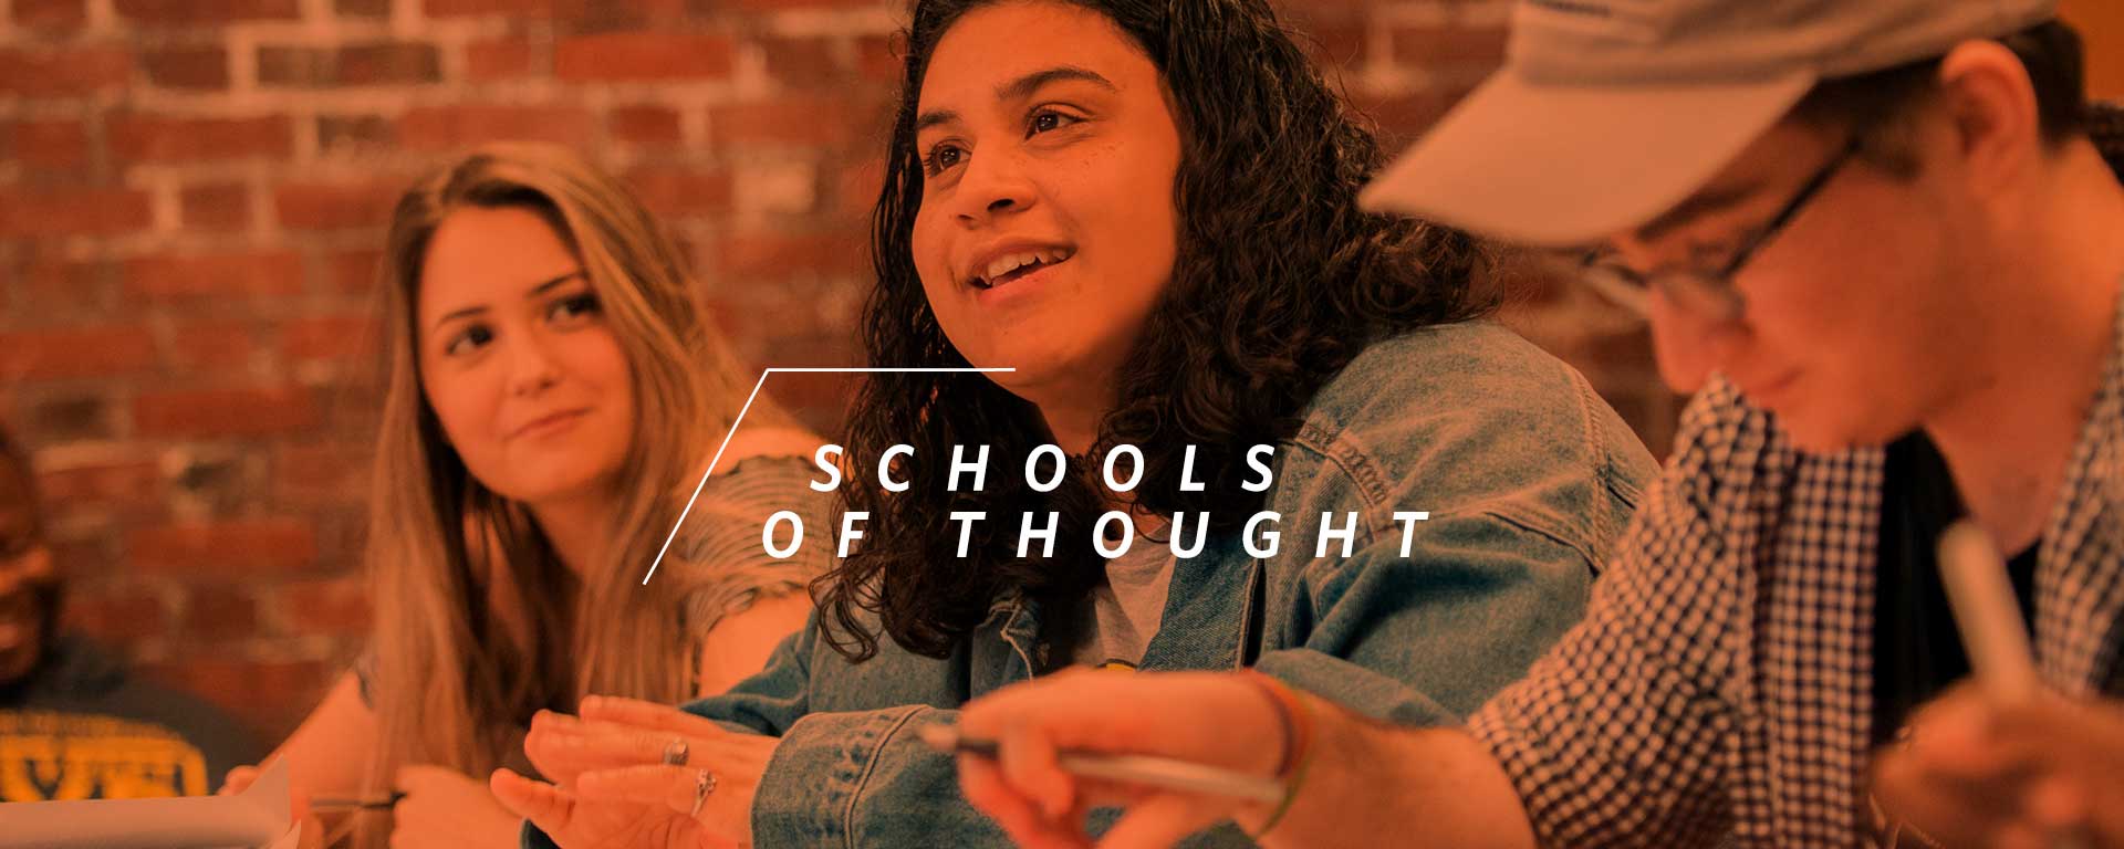
[[[818,439],[754,401],[641,586],[752,384],[641,204],[563,149],[480,149],[404,195],[380,278],[376,630],[276,758],[297,798],[404,794],[361,843],[514,847],[484,779],[535,711],[716,694],[803,624],[824,545],[760,531],[826,526]]]

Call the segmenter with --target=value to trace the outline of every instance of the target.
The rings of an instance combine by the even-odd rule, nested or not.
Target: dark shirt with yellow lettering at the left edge
[[[204,796],[263,753],[212,705],[134,679],[81,637],[0,688],[0,802]]]

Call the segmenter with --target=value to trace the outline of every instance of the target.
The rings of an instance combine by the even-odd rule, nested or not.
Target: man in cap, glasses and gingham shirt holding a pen
[[[1572,257],[1695,393],[1587,620],[1466,728],[1032,681],[962,713],[1000,741],[966,796],[1028,845],[1090,804],[1130,807],[1102,845],[2124,845],[2124,189],[2088,121],[2050,0],[1521,0],[1506,68],[1366,202]],[[1958,683],[1958,520],[2005,552],[2031,698]]]

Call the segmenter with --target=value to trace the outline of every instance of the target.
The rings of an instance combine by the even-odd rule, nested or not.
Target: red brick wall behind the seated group
[[[68,618],[282,734],[357,649],[370,263],[452,151],[590,151],[754,363],[847,365],[896,0],[0,0],[0,418]],[[1398,140],[1502,2],[1289,0]],[[1576,291],[1512,310],[1655,446],[1674,401]],[[833,380],[773,386],[820,427]]]

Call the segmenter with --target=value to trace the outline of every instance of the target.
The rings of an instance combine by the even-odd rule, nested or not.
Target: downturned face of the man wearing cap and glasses
[[[1846,134],[1788,121],[1769,129],[1682,208],[1610,244],[1638,270],[1716,265],[1763,227]],[[1918,138],[1926,166],[1905,180],[1863,157],[1837,168],[1791,223],[1733,278],[1746,310],[1712,320],[1652,297],[1661,376],[1680,393],[1712,374],[1778,414],[1801,448],[1878,446],[1912,429],[1954,391],[1952,340],[1982,333],[1969,246],[1980,204],[1958,187],[1941,134]],[[1975,323],[1971,318],[1977,318]]]

